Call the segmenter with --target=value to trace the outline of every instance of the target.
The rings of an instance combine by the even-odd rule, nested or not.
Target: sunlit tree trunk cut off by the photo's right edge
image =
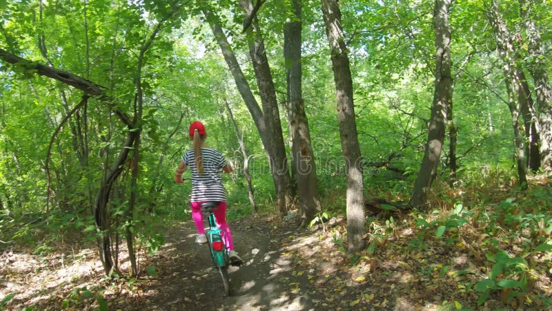
[[[548,65],[542,48],[542,39],[531,16],[531,1],[520,0],[521,16],[526,31],[529,52],[527,68],[535,83],[538,113],[535,127],[539,135],[541,167],[552,173],[552,93],[548,82]]]

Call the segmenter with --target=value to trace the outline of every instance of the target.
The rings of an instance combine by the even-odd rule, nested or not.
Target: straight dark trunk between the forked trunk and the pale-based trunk
[[[297,173],[297,194],[302,225],[315,218],[321,210],[318,197],[316,166],[311,133],[305,113],[302,92],[302,6],[299,0],[292,1],[295,20],[284,25],[284,58],[289,100],[289,122],[293,139],[293,164]]]

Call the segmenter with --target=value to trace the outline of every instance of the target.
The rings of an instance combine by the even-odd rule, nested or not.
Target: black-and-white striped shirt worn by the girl
[[[197,173],[193,149],[182,156],[182,162],[192,171],[192,202],[224,201],[226,190],[220,177],[221,169],[226,165],[224,156],[212,148],[201,148],[203,156],[203,174]]]

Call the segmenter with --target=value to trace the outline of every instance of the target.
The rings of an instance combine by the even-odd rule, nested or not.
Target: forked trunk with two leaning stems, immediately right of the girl
[[[213,35],[215,35],[215,39],[217,39],[217,43],[221,48],[226,64],[228,64],[228,68],[230,68],[230,72],[235,79],[238,91],[242,95],[242,98],[246,103],[251,116],[253,117],[255,126],[257,126],[257,130],[261,136],[268,160],[270,161],[270,170],[274,180],[279,211],[280,214],[285,215],[287,213],[286,205],[288,202],[291,202],[291,197],[289,195],[291,178],[288,170],[286,149],[284,147],[282,125],[279,122],[275,89],[262,41],[252,41],[250,54],[253,58],[253,67],[255,69],[255,75],[257,76],[259,92],[262,97],[263,110],[259,108],[259,104],[257,104],[257,100],[255,100],[255,96],[251,91],[247,79],[244,77],[244,73],[242,73],[242,69],[237,62],[230,44],[228,44],[228,39],[226,38],[226,35],[224,35],[224,32],[217,20],[217,16],[206,10],[204,11],[204,14],[206,15],[211,30],[213,30]],[[256,23],[256,21],[254,22]],[[258,48],[255,48],[257,44],[259,44],[259,46],[257,46]]]

